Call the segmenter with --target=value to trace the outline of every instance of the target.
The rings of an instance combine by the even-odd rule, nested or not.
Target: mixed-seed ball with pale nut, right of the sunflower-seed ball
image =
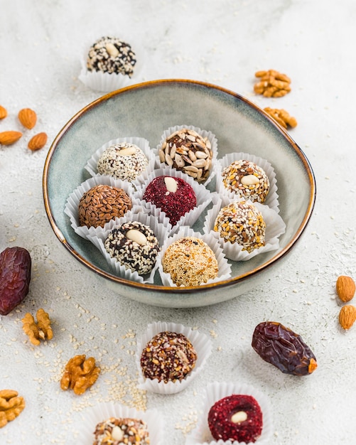
[[[269,178],[263,168],[252,161],[234,161],[222,171],[222,182],[238,198],[264,203],[269,193]]]

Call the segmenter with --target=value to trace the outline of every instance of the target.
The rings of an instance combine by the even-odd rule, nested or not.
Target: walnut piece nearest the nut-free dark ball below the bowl
[[[75,355],[65,365],[60,387],[63,391],[70,388],[76,395],[82,395],[87,388],[94,385],[99,373],[100,368],[95,366],[95,358],[85,360],[85,355]]]

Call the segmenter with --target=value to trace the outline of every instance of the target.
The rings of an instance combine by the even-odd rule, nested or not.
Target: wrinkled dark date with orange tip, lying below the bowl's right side
[[[282,372],[309,375],[317,367],[315,355],[301,336],[275,321],[264,321],[254,329],[252,348]]]

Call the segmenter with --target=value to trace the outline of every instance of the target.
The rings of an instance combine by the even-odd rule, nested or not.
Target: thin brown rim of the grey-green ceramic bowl
[[[77,119],[80,119],[82,115],[84,115],[87,111],[89,111],[92,108],[95,108],[98,104],[101,104],[102,102],[105,102],[109,100],[113,96],[120,95],[124,92],[127,92],[129,90],[137,90],[142,87],[155,87],[157,85],[164,85],[164,84],[191,84],[191,85],[199,85],[207,88],[213,88],[215,90],[220,90],[221,92],[224,92],[227,95],[232,95],[233,97],[236,97],[237,99],[241,100],[242,102],[245,102],[249,105],[249,107],[254,108],[257,112],[264,115],[266,119],[269,120],[269,122],[276,127],[276,129],[284,136],[285,139],[288,140],[291,147],[296,152],[296,155],[300,159],[300,161],[303,163],[304,168],[306,169],[306,172],[308,173],[308,181],[309,186],[311,188],[310,195],[309,195],[309,201],[308,201],[308,208],[306,211],[306,214],[304,215],[304,218],[301,222],[301,224],[298,227],[298,230],[296,230],[295,235],[293,235],[292,239],[288,242],[288,244],[279,252],[277,252],[273,257],[271,257],[268,261],[264,262],[263,264],[259,265],[258,267],[250,270],[249,272],[245,272],[244,274],[238,275],[236,277],[231,277],[230,279],[225,279],[221,282],[215,282],[210,284],[202,284],[200,286],[186,286],[186,287],[171,287],[171,286],[161,286],[158,284],[149,284],[149,283],[138,283],[133,282],[128,279],[124,279],[122,277],[117,277],[114,274],[110,274],[109,272],[106,272],[99,267],[96,267],[94,264],[91,264],[85,257],[82,257],[81,254],[79,254],[75,248],[70,245],[70,243],[65,239],[65,236],[63,235],[62,231],[58,227],[55,218],[51,212],[50,209],[50,198],[48,195],[48,173],[50,168],[50,163],[53,158],[53,154],[55,152],[56,147],[58,146],[58,143],[60,139],[64,136],[64,134],[68,131],[68,129],[71,127],[73,123],[77,121]],[[265,271],[267,268],[271,267],[272,264],[274,264],[278,259],[281,259],[284,257],[293,247],[293,245],[296,244],[296,242],[301,237],[303,231],[306,228],[306,225],[308,224],[309,220],[311,219],[311,215],[313,213],[313,208],[315,205],[315,198],[316,198],[316,183],[315,183],[315,176],[313,173],[313,168],[311,167],[311,163],[308,161],[306,155],[303,153],[302,149],[296,144],[296,142],[291,138],[291,136],[288,134],[288,132],[281,127],[279,124],[274,121],[274,119],[269,116],[266,112],[264,112],[263,109],[261,109],[257,104],[254,104],[250,100],[248,100],[246,97],[243,97],[242,95],[239,95],[237,92],[233,92],[232,90],[228,90],[225,87],[221,87],[219,85],[214,85],[209,82],[203,82],[200,80],[188,80],[188,79],[161,79],[161,80],[149,80],[146,82],[140,82],[134,85],[129,85],[127,87],[123,87],[119,90],[114,90],[112,92],[109,92],[107,94],[102,95],[101,97],[98,97],[96,100],[90,102],[85,107],[82,107],[74,116],[72,116],[69,121],[63,126],[62,129],[60,129],[60,132],[55,136],[55,139],[53,139],[52,144],[50,145],[50,149],[48,150],[48,154],[45,158],[45,164],[43,167],[43,178],[42,178],[42,188],[43,188],[43,200],[45,205],[45,212],[47,214],[50,226],[53,229],[53,232],[55,233],[55,236],[58,237],[58,240],[60,240],[61,244],[65,247],[70,254],[72,254],[73,257],[75,257],[80,263],[82,263],[85,267],[90,269],[92,272],[95,272],[95,274],[98,274],[99,277],[103,277],[104,279],[108,279],[111,282],[122,284],[126,286],[130,286],[132,288],[141,289],[144,291],[155,291],[159,293],[166,293],[171,292],[173,294],[191,294],[191,293],[200,293],[205,291],[211,291],[213,289],[220,289],[225,286],[232,286],[237,284],[238,282],[243,282],[245,279],[253,277],[256,274],[259,274],[260,272]]]

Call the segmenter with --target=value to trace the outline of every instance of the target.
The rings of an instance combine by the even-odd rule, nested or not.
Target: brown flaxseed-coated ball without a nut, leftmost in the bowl
[[[104,227],[110,220],[124,216],[131,207],[131,199],[122,188],[99,184],[90,188],[80,198],[79,224]]]

